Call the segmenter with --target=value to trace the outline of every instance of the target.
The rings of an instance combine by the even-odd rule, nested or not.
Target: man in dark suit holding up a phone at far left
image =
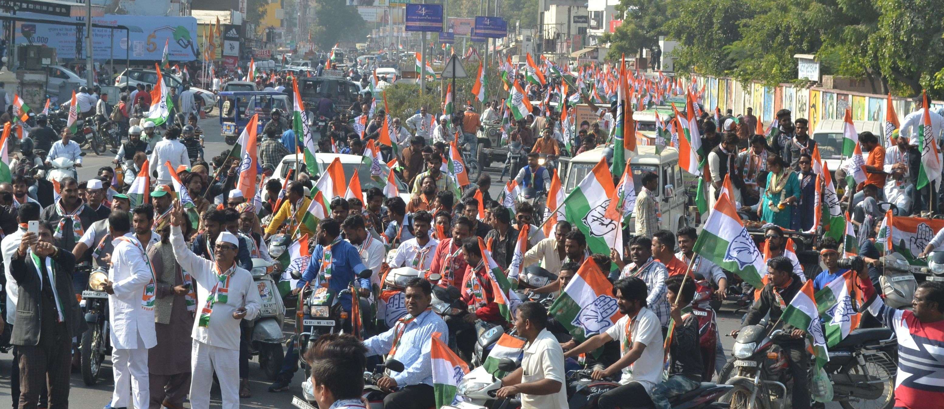
[[[48,222],[39,234],[27,231],[10,260],[19,287],[10,343],[19,355],[21,409],[35,409],[45,387],[49,408],[69,405],[72,338],[87,329],[73,296],[75,267],[75,256],[53,245]]]

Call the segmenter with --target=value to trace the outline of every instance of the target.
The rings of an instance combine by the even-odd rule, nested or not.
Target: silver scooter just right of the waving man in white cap
[[[285,306],[278,293],[278,285],[272,277],[270,267],[273,263],[262,259],[252,259],[252,280],[259,289],[262,300],[259,315],[249,324],[251,327],[251,347],[259,355],[259,366],[265,371],[265,376],[276,379],[282,367],[285,352],[282,343],[285,335],[282,334],[282,324],[285,322]]]

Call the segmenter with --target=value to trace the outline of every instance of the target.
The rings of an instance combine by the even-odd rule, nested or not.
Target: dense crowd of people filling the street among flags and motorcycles
[[[227,80],[218,79],[213,79],[214,89]],[[256,79],[276,92],[290,84],[290,78],[277,73]],[[529,87],[527,92],[540,97],[549,88]],[[224,151],[207,162],[202,144],[194,145],[194,135],[202,134],[197,126],[200,107],[192,103],[192,95],[184,96],[191,93],[186,85],[178,96],[179,119],[175,115],[173,123],[160,127],[137,121],[127,111],[150,103],[146,87],[129,91],[118,105],[127,121],[126,142],[114,158],[124,170],[123,179],[106,166],[92,179],[67,177],[57,180],[56,189],[47,185],[38,172],[45,162],[64,157],[81,166],[82,154],[70,141],[68,128],[57,136],[40,117],[37,128],[20,143],[20,154],[10,166],[11,181],[0,183],[0,229],[5,235],[0,251],[7,279],[3,322],[18,362],[11,374],[14,407],[67,404],[68,377],[76,366],[75,338],[87,331],[76,294],[93,285],[91,268],[83,265],[102,268],[108,277],[95,282],[110,302],[114,390],[106,409],[132,404],[177,409],[188,397],[191,407],[205,409],[214,372],[225,409],[235,409],[240,398],[251,396],[251,342],[244,321],[260,313],[261,299],[249,272],[253,259],[278,263],[268,251],[277,236],[290,242],[307,238],[306,247],[311,248],[310,263],[285,297],[303,295],[310,286],[335,292],[352,286],[353,294],[339,298],[341,308],[347,315],[363,315],[368,323],[354,333],[348,327],[342,329],[344,334],[322,336],[304,351],[301,359],[311,368],[313,397],[325,408],[363,407],[362,374],[379,362],[375,355],[386,355],[405,369],[377,381],[389,393],[384,407],[427,409],[435,404],[433,338],[454,345],[454,352],[471,363],[481,329],[498,326],[514,328],[525,341],[520,367],[502,378],[498,399],[519,396],[522,407],[564,409],[565,367],[599,350],[585,364],[592,378],[614,380],[619,386],[603,393],[598,407],[625,407],[632,401],[668,409],[669,400],[716,379],[727,362],[716,323],[700,319],[714,316],[713,299],[741,295],[739,302],[750,304],[747,325],[761,322],[765,315],[777,321],[805,281],[821,289],[849,271],[839,268],[841,247],[831,238],[819,241],[816,248],[825,266],[822,271],[804,271],[789,257],[795,249],[787,247],[788,235],[818,228],[815,215],[821,205],[815,197],[823,181],[814,171],[818,144],[808,134],[808,121],[794,120],[787,110],[777,112],[779,128],[773,137],[755,131],[758,120],[750,108],[743,115],[728,110],[712,118],[704,113],[698,121],[709,209],[728,195],[738,213],[757,221],[765,233],[760,250],[767,281],[754,289],[742,286],[739,271],[725,271],[695,251],[699,230],[663,229],[654,173],[643,175],[637,187],[634,224],[626,224],[623,232],[627,246],[609,254],[591,251],[577,221],[558,220],[546,235],[540,214],[553,210],[543,201],[531,205],[514,203],[514,198],[512,209],[509,200],[490,193],[488,175],[460,185],[443,170],[444,158],[451,158],[450,144],[475,144],[483,124],[500,122],[507,108],[498,101],[482,104],[482,113],[469,106],[439,118],[427,107],[417,107],[403,121],[372,110],[370,94],[362,94],[343,112],[335,112],[330,100],[312,107],[333,118],[318,151],[367,156],[366,162],[373,158],[365,145],[379,141],[383,122],[390,121],[384,136],[397,149],[380,150],[385,160],[396,161],[391,172],[406,186],[400,193],[408,195],[405,199],[382,189],[386,175],[362,175],[362,180],[375,183],[351,182],[359,185],[358,191],[363,188],[361,197],[341,192],[325,197],[326,214],[312,224],[310,209],[319,205],[312,200],[320,175],[298,169],[284,183],[274,175],[281,159],[304,143],[304,135],[295,133],[283,112],[273,110],[262,127],[260,173],[258,179],[248,180],[261,191],[257,198],[245,194],[244,166],[233,158],[238,155]],[[86,93],[94,98],[93,92]],[[528,164],[514,175],[519,186],[546,195],[551,171],[540,164],[541,157],[568,155],[569,150],[576,155],[612,144],[616,105],[599,108],[596,103],[601,101],[587,96],[583,100],[598,112],[599,121],[579,127],[573,137],[552,110],[535,108],[508,128],[509,142],[531,148]],[[883,255],[874,246],[885,217],[879,203],[893,203],[899,215],[931,210],[930,188],[916,188],[921,154],[914,129],[896,129],[887,141],[870,132],[858,134],[864,155],[868,152],[867,178],[849,185],[844,200],[849,202],[851,223],[863,237],[858,248],[867,264],[856,276],[867,295],[881,288],[881,273],[871,268]],[[48,157],[37,158],[33,149],[48,151]],[[837,170],[834,179],[845,180],[844,172]],[[132,189],[143,184],[146,199]],[[702,220],[707,216],[702,214]],[[933,250],[936,246],[929,244],[925,252]],[[582,340],[568,331],[571,323],[550,314],[541,302],[525,300],[514,306],[512,315],[505,314],[504,296],[493,285],[493,268],[508,274],[531,265],[557,279],[521,291],[523,298],[564,297],[568,284],[581,275],[582,281],[612,287],[614,314],[618,311],[622,317]],[[402,288],[405,308],[400,315],[381,316],[376,304],[382,302],[384,273],[401,267],[420,274]],[[456,318],[431,311],[434,286],[458,289],[467,314]],[[944,341],[940,282],[919,285],[914,312],[891,310],[880,298],[868,301],[868,311],[878,318],[872,324],[913,337],[919,346]],[[795,374],[791,407],[807,408],[806,330],[785,330],[790,339],[780,345]],[[268,388],[271,392],[297,387],[292,380],[299,351],[293,341],[287,347],[277,380]],[[941,357],[926,353],[928,359]],[[900,368],[899,376],[907,374]],[[899,389],[896,406],[904,408],[926,407],[919,400],[927,391],[941,392],[936,386],[920,393]]]

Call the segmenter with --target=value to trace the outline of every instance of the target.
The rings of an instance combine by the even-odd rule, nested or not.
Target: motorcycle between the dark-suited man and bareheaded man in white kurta
[[[89,330],[82,332],[79,344],[82,381],[87,386],[98,383],[105,355],[111,353],[109,295],[101,287],[108,277],[105,268],[95,268],[89,276],[88,289],[82,291],[79,302],[85,311],[85,322],[89,324]]]

